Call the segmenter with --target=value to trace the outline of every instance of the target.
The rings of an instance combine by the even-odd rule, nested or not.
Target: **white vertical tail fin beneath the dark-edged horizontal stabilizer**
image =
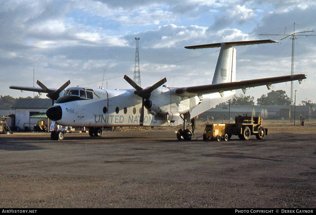
[[[236,80],[236,49],[224,43],[221,46],[212,84]]]

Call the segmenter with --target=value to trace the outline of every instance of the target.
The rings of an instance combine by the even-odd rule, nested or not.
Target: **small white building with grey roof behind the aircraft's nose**
[[[48,125],[46,110],[51,106],[52,99],[17,100],[11,107],[15,110],[15,126],[22,130],[26,128],[33,129],[34,125],[40,120],[44,120],[45,124]]]

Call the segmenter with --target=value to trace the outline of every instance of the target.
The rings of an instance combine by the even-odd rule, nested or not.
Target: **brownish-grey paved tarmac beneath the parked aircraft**
[[[0,207],[315,208],[315,150],[313,134],[1,134]]]

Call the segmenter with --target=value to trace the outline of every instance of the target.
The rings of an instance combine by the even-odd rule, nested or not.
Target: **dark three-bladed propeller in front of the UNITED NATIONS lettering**
[[[147,87],[143,89],[142,87],[139,87],[133,80],[131,80],[127,75],[124,75],[125,81],[127,81],[136,91],[134,92],[135,94],[139,95],[140,97],[143,98],[142,101],[142,109],[140,113],[140,119],[139,119],[139,125],[143,126],[144,124],[144,106],[149,109],[152,105],[152,102],[149,100],[151,92],[153,92],[155,89],[163,85],[164,83],[167,82],[167,79],[161,79],[151,87]]]

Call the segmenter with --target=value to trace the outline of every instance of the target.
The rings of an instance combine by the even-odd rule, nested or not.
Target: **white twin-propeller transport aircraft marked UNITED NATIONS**
[[[298,80],[306,75],[286,75],[270,78],[236,80],[236,49],[238,45],[276,43],[273,40],[252,40],[223,42],[205,45],[186,46],[187,49],[221,47],[212,84],[193,87],[168,87],[166,78],[151,87],[142,88],[128,76],[124,79],[134,88],[111,90],[100,88],[69,87],[67,81],[59,89],[47,88],[40,81],[40,88],[10,86],[10,89],[47,93],[55,103],[48,108],[46,115],[51,119],[52,140],[62,140],[64,134],[56,129],[63,126],[88,127],[89,135],[99,137],[103,128],[116,126],[179,126],[178,140],[191,140],[192,133],[186,122],[217,104],[228,101],[236,92],[246,88]],[[146,109],[146,110],[145,110]]]

